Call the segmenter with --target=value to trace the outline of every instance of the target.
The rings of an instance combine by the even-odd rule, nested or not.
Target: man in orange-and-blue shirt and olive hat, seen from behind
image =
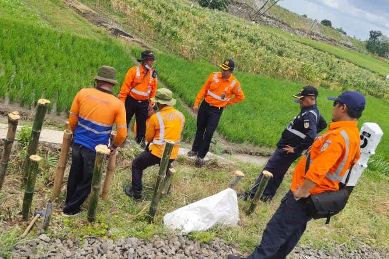
[[[116,80],[116,70],[102,66],[94,77],[95,88],[81,89],[71,104],[69,127],[73,132],[71,168],[66,193],[65,214],[80,211],[90,192],[95,147],[108,145],[113,123],[116,123],[117,135],[111,145],[111,153],[124,141],[127,135],[124,105],[112,93]]]

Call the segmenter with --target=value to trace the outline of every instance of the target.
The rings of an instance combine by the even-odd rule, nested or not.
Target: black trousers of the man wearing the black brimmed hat
[[[149,100],[139,101],[133,97],[127,95],[125,99],[125,119],[128,123],[131,121],[132,116],[135,114],[137,121],[137,142],[144,141],[146,135],[146,120],[147,120],[147,107],[149,106]]]

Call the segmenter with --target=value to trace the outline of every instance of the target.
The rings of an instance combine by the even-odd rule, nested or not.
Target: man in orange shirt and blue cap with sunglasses
[[[248,259],[285,258],[299,242],[307,222],[312,219],[307,213],[306,201],[301,198],[339,190],[343,176],[347,175],[352,163],[359,159],[357,121],[365,109],[365,97],[357,91],[346,91],[338,98],[327,99],[334,101],[334,122],[300,159],[290,190],[267,223],[261,243]],[[307,156],[310,156],[310,164],[306,171]],[[228,258],[239,257],[230,255]]]

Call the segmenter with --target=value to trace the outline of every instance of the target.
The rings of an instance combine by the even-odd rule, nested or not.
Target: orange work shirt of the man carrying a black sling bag
[[[339,190],[339,183],[347,175],[351,164],[358,161],[359,130],[357,121],[336,121],[330,124],[326,133],[319,136],[309,149],[310,166],[305,174],[306,155],[297,163],[293,173],[291,190],[302,186],[305,178],[316,183],[309,192]]]

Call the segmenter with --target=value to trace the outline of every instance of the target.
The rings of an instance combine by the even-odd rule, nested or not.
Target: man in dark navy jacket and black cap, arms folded
[[[318,132],[327,127],[316,105],[318,90],[314,86],[304,86],[298,94],[293,95],[300,104],[301,111],[286,127],[277,143],[277,149],[267,161],[264,170],[273,174],[261,197],[262,201],[271,201],[276,190],[283,181],[283,176],[290,165],[315,140]],[[261,182],[262,173],[258,176],[253,187],[245,193],[245,199],[253,198]]]

